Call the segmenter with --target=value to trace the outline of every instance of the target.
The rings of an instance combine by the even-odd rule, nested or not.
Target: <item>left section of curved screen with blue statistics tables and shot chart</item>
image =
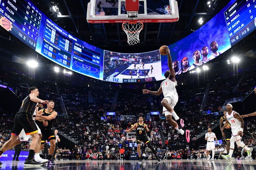
[[[53,62],[102,79],[103,50],[63,30],[31,1],[0,0],[0,25]]]

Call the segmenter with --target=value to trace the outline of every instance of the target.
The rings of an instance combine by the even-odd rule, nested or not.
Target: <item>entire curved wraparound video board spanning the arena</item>
[[[118,83],[151,82],[165,79],[164,73],[169,70],[167,56],[158,50],[117,53],[76,38],[30,0],[0,0],[0,25],[46,58],[92,78]],[[231,0],[200,29],[169,45],[176,74],[214,59],[255,28],[255,0]]]

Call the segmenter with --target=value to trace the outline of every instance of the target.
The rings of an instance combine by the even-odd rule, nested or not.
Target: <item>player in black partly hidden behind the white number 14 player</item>
[[[227,113],[227,110],[223,111],[223,116],[221,116],[220,118],[220,129],[223,127],[223,125],[226,123],[226,119],[225,119],[225,115]],[[221,134],[223,137],[225,137],[225,141],[227,143],[227,153],[229,153],[229,149],[230,149],[230,138],[232,136],[232,131],[231,131],[231,125],[230,123],[228,124],[228,126],[226,126],[226,128],[223,130],[223,132],[221,131]],[[235,142],[235,148],[234,148],[234,155],[236,157],[236,159],[239,161],[240,157],[237,155],[238,153],[238,148],[237,148],[237,144]]]

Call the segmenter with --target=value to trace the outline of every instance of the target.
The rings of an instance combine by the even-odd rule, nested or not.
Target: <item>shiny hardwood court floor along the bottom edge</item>
[[[241,160],[237,162],[232,160],[231,163],[223,159],[214,161],[207,160],[161,160],[158,163],[156,160],[144,160],[142,164],[138,161],[132,160],[60,160],[56,161],[55,165],[45,164],[37,167],[24,167],[24,161],[1,161],[3,163],[0,169],[48,169],[48,170],[166,170],[166,169],[180,169],[180,170],[235,170],[235,169],[256,169],[256,160]]]

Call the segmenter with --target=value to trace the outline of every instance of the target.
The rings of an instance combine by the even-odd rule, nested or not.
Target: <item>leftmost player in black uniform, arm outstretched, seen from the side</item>
[[[48,104],[49,101],[37,98],[39,96],[39,91],[37,87],[30,87],[28,89],[28,93],[29,95],[22,101],[21,107],[14,117],[12,136],[0,149],[0,156],[3,152],[7,151],[8,148],[16,145],[17,136],[20,134],[21,130],[24,129],[26,135],[31,135],[32,137],[28,158],[26,159],[24,166],[41,166],[43,165],[42,163],[36,162],[33,159],[38,144],[39,135],[36,123],[32,119],[32,116],[36,110],[37,102]]]

